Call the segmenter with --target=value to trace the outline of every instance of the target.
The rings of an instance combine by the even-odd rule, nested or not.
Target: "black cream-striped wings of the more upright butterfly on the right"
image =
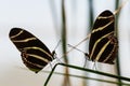
[[[110,11],[101,13],[93,26],[89,43],[89,59],[113,64],[118,43],[115,37],[115,17]]]

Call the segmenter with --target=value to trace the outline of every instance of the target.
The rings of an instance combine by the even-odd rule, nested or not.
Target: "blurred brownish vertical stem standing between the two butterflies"
[[[66,31],[66,15],[65,15],[65,1],[62,0],[62,48],[63,48],[63,54],[65,54],[67,52],[67,48],[66,48],[66,44],[67,44],[67,31]],[[68,63],[68,59],[67,59],[67,56],[65,55],[64,56],[64,61],[66,63]],[[69,71],[68,71],[68,68],[65,68],[65,73],[68,74]],[[69,76],[66,75],[64,77],[64,82],[63,82],[63,85],[62,86],[70,86],[70,83],[69,83]]]

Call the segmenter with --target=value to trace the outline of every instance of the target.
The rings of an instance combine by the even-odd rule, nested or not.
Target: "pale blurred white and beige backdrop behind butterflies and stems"
[[[62,4],[64,1],[64,8]],[[119,2],[118,2],[119,1]],[[13,27],[28,30],[38,37],[52,52],[62,33],[66,33],[66,44],[76,45],[82,41],[92,28],[92,23],[98,15],[105,10],[114,12],[118,5],[126,0],[0,0],[0,85],[1,86],[43,86],[51,71],[50,64],[41,72],[35,74],[23,63],[21,53],[9,39],[9,32]],[[63,9],[65,17],[63,17]],[[91,14],[92,12],[92,14]],[[118,16],[118,40],[119,40],[119,67],[114,64],[98,63],[98,70],[130,77],[130,1],[121,8]],[[64,20],[66,28],[64,29]],[[64,29],[64,30],[63,30]],[[63,32],[62,32],[63,31]],[[64,38],[64,37],[63,37]],[[88,52],[88,41],[78,46]],[[67,47],[67,46],[66,46]],[[69,48],[68,48],[69,49]],[[57,57],[63,55],[62,43],[56,49]],[[67,62],[83,67],[84,55],[73,51],[67,56]],[[63,59],[65,61],[65,59]],[[55,63],[56,61],[52,62]],[[87,61],[87,68],[92,69],[92,62]],[[116,68],[118,67],[119,70]],[[65,72],[63,67],[56,71]],[[87,72],[72,70],[69,73],[95,76]],[[63,75],[53,75],[48,86],[67,86]],[[68,86],[117,86],[107,83],[99,83],[82,78],[70,77]]]

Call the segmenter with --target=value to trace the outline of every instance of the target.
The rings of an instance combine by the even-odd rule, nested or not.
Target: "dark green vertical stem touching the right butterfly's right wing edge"
[[[119,0],[116,0],[115,2],[115,10],[117,10],[119,6]],[[115,15],[115,27],[116,27],[116,37],[118,38],[118,17],[119,17],[119,13],[117,15]],[[116,60],[116,67],[117,67],[117,75],[120,75],[120,63],[119,63],[119,56],[117,54],[117,60]],[[121,83],[121,80],[118,78],[118,82]],[[120,84],[118,86],[121,86]]]

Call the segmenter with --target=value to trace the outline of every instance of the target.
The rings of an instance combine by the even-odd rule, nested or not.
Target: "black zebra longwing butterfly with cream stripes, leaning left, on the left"
[[[51,53],[49,48],[30,32],[21,28],[12,28],[9,37],[21,52],[24,64],[31,71],[38,73],[54,59],[55,52]]]

